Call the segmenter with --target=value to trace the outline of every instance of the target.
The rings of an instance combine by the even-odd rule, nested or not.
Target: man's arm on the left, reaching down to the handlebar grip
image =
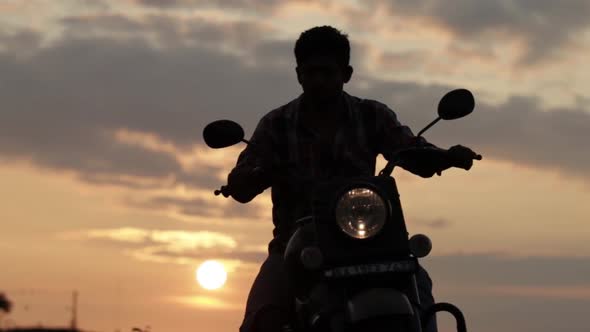
[[[265,116],[258,122],[250,144],[240,153],[236,166],[228,175],[229,192],[236,201],[247,203],[270,187],[272,147],[272,127]]]

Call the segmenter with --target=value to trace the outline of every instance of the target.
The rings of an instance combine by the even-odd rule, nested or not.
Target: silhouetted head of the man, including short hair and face
[[[301,33],[295,59],[304,94],[320,104],[336,100],[352,76],[348,36],[330,26]]]

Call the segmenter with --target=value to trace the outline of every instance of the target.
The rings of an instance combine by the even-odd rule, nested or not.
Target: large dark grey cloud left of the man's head
[[[253,127],[256,123],[252,115],[269,111],[270,105],[286,100],[297,89],[293,75],[262,66],[251,68],[243,58],[221,50],[224,43],[231,43],[230,31],[244,43],[258,40],[259,30],[248,23],[200,22],[195,27],[192,22],[184,24],[165,16],[145,23],[121,16],[100,16],[90,21],[67,23],[64,38],[38,49],[28,61],[1,59],[0,65],[6,69],[3,83],[9,87],[4,90],[3,97],[9,98],[3,113],[38,111],[43,105],[48,120],[69,121],[70,127],[92,123],[99,128],[126,128],[155,133],[165,141],[188,147],[200,141],[201,128],[209,120],[231,114]],[[166,23],[158,25],[157,21]],[[131,36],[95,36],[84,30],[95,29],[88,25],[97,25],[107,33],[109,29],[121,30]],[[185,25],[197,32],[180,35],[177,30]],[[142,33],[136,35],[136,31]],[[195,38],[199,43],[160,49],[149,42],[150,31],[157,31],[168,41]],[[250,37],[243,38],[246,35]],[[209,39],[215,40],[218,48],[206,47]],[[276,80],[286,84],[277,87],[272,84]],[[250,82],[259,84],[254,88]],[[30,96],[36,98],[26,99]],[[30,114],[25,115],[14,120],[31,119]]]

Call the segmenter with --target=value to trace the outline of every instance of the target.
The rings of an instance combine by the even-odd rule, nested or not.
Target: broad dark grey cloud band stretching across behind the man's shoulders
[[[3,158],[74,171],[93,183],[142,186],[141,181],[129,179],[173,178],[173,183],[211,189],[219,185],[213,175],[218,169],[187,172],[175,156],[118,142],[113,133],[119,129],[148,133],[191,151],[201,144],[201,131],[208,122],[234,119],[249,135],[257,119],[300,91],[291,42],[257,37],[257,25],[202,22],[195,28],[194,40],[217,40],[215,45],[221,47],[226,29],[250,27],[251,32],[236,35],[244,37],[250,48],[245,55],[231,55],[199,43],[174,42],[177,47],[161,48],[139,33],[164,31],[168,37],[162,39],[184,40],[179,32],[183,29],[169,16],[145,21],[120,16],[69,18],[64,24],[63,39],[27,58],[0,54]],[[130,36],[80,34],[84,27],[91,31],[110,27]],[[68,32],[73,30],[79,34]],[[360,63],[366,48],[353,46],[353,62]],[[358,84],[361,81],[368,89]],[[434,118],[438,99],[452,88],[379,81],[362,74],[355,74],[347,86],[353,94],[386,102],[415,131]],[[477,99],[480,92],[474,93]],[[439,124],[427,137],[443,146],[465,144],[491,158],[588,177],[590,156],[582,153],[588,133],[590,116],[584,109],[544,111],[537,98],[514,96],[501,105],[478,102],[474,114]]]

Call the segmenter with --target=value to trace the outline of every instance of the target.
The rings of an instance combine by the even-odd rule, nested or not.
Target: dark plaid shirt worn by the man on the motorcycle
[[[376,157],[389,160],[393,152],[420,142],[412,131],[402,125],[386,105],[361,99],[343,92],[344,112],[331,141],[322,140],[303,121],[302,96],[268,114],[258,123],[250,142],[238,158],[236,168],[270,169],[272,165],[289,165],[296,174],[314,180],[335,176],[373,176]],[[403,168],[420,173],[409,163]],[[271,186],[270,178],[258,184],[258,192]],[[275,239],[270,248],[284,248],[294,222],[310,214],[309,186],[300,181],[272,185],[273,223]]]

